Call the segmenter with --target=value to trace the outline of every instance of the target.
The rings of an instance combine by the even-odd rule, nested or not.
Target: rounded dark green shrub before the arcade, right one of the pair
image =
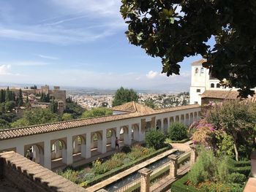
[[[168,137],[174,141],[187,138],[187,126],[182,123],[173,123],[169,128]]]

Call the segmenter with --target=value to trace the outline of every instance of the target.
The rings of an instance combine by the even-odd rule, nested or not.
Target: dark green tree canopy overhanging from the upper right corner
[[[179,74],[178,62],[202,55],[223,85],[256,87],[256,1],[121,0],[129,42],[162,58],[162,73]],[[214,47],[207,45],[215,37]]]

